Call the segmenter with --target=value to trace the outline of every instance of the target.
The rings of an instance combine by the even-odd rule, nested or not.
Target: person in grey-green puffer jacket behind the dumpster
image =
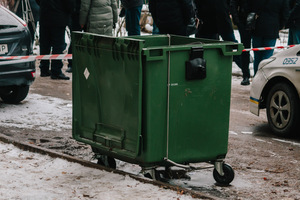
[[[87,32],[112,36],[117,22],[116,0],[81,0],[79,23]]]

